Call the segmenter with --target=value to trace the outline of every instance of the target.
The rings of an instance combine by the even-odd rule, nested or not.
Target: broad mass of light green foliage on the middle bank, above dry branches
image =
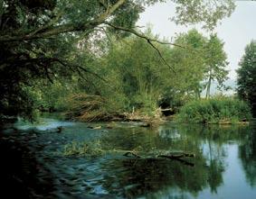
[[[145,34],[157,39],[150,29]],[[159,106],[171,107],[176,112],[185,102],[200,97],[209,59],[219,63],[221,56],[206,58],[208,49],[205,47],[210,40],[196,30],[191,30],[175,40],[175,43],[185,48],[154,43],[166,62],[175,70],[174,73],[144,39],[130,36],[117,41],[112,37],[109,50],[100,58],[96,56],[87,60],[81,52],[81,63],[90,63],[91,70],[104,77],[105,81],[88,75],[86,79],[76,77],[76,81],[68,86],[77,87],[74,92],[70,92],[71,97],[63,92],[62,87],[66,84],[63,82],[44,92],[43,101],[52,99],[58,105],[56,95],[59,95],[64,102],[64,109],[68,111],[68,117],[82,121],[99,121],[100,118],[105,121],[112,118],[111,114],[121,115],[133,111],[154,117],[158,115]],[[102,44],[101,47],[104,49],[105,45]],[[222,50],[220,54],[223,55]],[[214,67],[217,70],[215,64]],[[217,77],[219,71],[215,71],[213,75],[214,78]],[[67,94],[68,98],[63,94]],[[96,106],[93,98],[100,99],[100,104]]]

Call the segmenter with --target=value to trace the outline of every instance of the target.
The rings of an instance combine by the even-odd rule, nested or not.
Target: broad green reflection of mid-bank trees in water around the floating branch
[[[216,135],[225,131],[225,135]],[[103,142],[114,148],[189,151],[196,154],[196,158],[188,159],[193,161],[195,167],[168,159],[111,160],[111,163],[102,165],[108,170],[103,186],[112,194],[122,193],[130,198],[160,190],[167,195],[170,194],[169,188],[196,195],[210,187],[216,193],[223,183],[225,152],[222,145],[238,136],[231,129],[225,131],[221,132],[219,127],[202,126],[169,126],[159,131],[142,128],[111,131]]]

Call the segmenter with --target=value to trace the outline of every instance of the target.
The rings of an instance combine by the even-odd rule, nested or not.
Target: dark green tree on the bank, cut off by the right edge
[[[237,93],[251,104],[253,116],[256,116],[256,41],[251,41],[245,48],[237,69]]]

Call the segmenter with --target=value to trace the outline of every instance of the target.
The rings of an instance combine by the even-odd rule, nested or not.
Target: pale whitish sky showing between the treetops
[[[174,3],[158,3],[147,7],[145,12],[140,14],[137,25],[147,26],[150,24],[155,34],[169,40],[175,37],[175,33],[187,32],[192,28],[207,35],[207,32],[202,30],[199,25],[177,26],[169,20],[174,15]],[[223,19],[222,23],[216,27],[215,32],[224,42],[224,50],[230,62],[227,69],[230,71],[231,81],[234,82],[236,79],[235,69],[239,68],[238,63],[244,54],[245,46],[252,39],[256,40],[256,1],[236,1],[234,13],[231,17]]]

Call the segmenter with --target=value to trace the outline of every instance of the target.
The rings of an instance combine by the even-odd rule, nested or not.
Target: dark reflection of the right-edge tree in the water
[[[251,186],[256,186],[256,126],[251,126],[247,131],[249,133],[244,133],[246,141],[239,147],[239,157],[247,181]]]

